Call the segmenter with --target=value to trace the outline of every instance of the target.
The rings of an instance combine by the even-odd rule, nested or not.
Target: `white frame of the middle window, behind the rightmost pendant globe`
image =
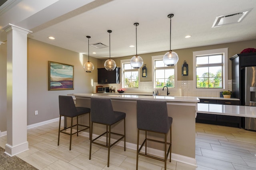
[[[153,88],[154,89],[162,89],[162,88],[156,88],[156,81],[155,81],[155,77],[156,77],[156,74],[155,74],[155,60],[161,60],[163,59],[164,55],[157,55],[157,56],[152,56],[152,61],[151,61],[151,64],[152,64],[152,81],[153,81]],[[174,88],[168,88],[169,91],[175,91],[178,89],[178,74],[177,74],[177,64],[175,64],[174,66]],[[165,67],[165,68],[169,68],[169,67]]]

